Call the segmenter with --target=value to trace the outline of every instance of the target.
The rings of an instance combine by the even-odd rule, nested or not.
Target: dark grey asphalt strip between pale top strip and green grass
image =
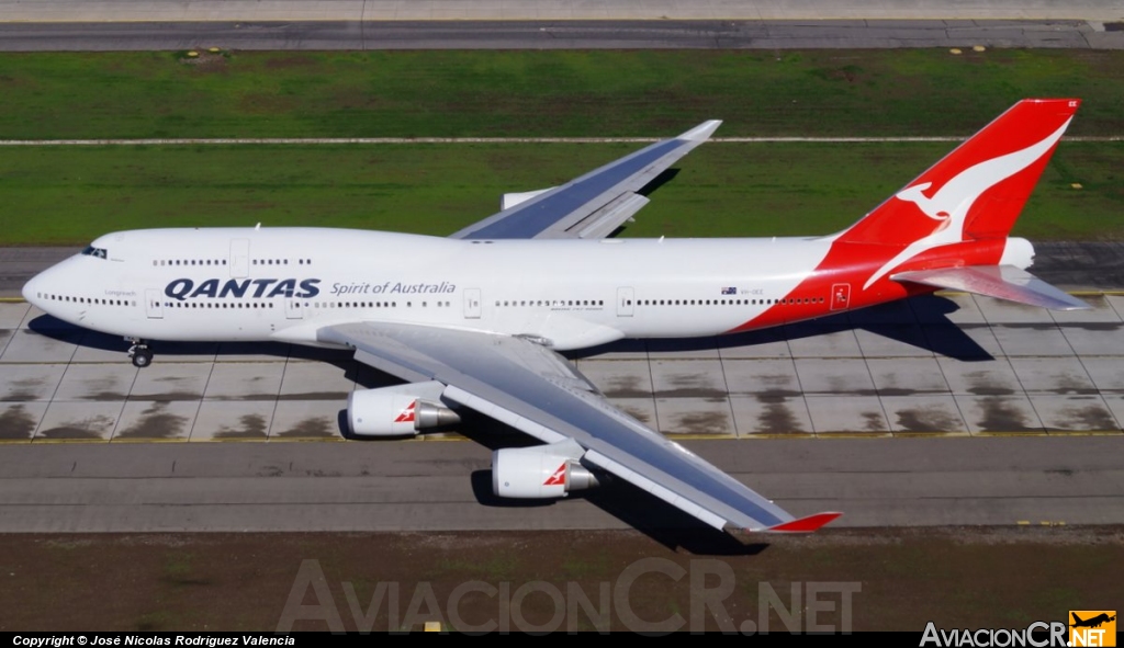
[[[0,51],[1124,48],[1088,20],[277,20],[0,22]]]

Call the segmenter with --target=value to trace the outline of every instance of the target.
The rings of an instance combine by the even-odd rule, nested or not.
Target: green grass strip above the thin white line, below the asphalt
[[[1124,52],[989,49],[0,54],[0,139],[968,135],[1018,99],[1124,133]]]

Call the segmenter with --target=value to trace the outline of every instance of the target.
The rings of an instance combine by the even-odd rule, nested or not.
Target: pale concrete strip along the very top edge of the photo
[[[1124,19],[1117,0],[0,0],[3,21]]]

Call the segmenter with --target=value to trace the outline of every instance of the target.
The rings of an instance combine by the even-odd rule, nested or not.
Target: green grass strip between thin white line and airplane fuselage
[[[564,182],[638,146],[13,147],[0,156],[0,245],[256,222],[446,235],[497,211],[505,192]],[[830,234],[951,147],[707,144],[677,165],[624,236]],[[1122,170],[1124,143],[1063,142],[1015,234],[1124,237]]]

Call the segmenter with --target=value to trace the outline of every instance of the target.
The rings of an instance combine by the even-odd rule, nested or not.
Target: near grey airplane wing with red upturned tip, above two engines
[[[442,398],[553,444],[572,439],[581,464],[616,475],[734,536],[814,531],[839,517],[796,520],[769,500],[617,410],[554,352],[525,338],[436,327],[357,322],[318,339],[407,381],[438,381]]]

